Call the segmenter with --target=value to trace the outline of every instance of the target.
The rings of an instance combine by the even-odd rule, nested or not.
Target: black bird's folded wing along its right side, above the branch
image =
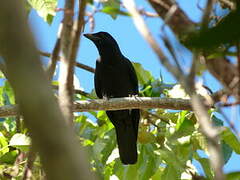
[[[129,77],[130,77],[131,83],[133,84],[134,95],[138,95],[138,79],[137,79],[136,71],[135,71],[135,69],[134,69],[130,60],[125,58],[124,62],[127,65]]]

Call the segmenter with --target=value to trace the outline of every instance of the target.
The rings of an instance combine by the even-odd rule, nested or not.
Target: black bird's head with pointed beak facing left
[[[84,34],[97,47],[100,56],[121,55],[117,41],[107,32]]]

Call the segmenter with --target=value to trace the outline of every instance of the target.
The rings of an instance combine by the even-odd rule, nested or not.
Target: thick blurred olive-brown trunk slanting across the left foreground
[[[0,53],[47,179],[92,179],[85,155],[64,123],[23,9],[22,1],[1,2]]]

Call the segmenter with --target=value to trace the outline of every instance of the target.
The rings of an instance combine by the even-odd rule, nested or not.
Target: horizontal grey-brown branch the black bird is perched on
[[[74,112],[88,112],[99,110],[118,110],[118,109],[173,109],[191,110],[190,101],[187,99],[158,98],[158,97],[124,97],[112,98],[109,100],[91,99],[77,101],[74,105]],[[6,105],[0,107],[0,117],[16,116],[18,105]],[[41,111],[41,108],[39,108]]]

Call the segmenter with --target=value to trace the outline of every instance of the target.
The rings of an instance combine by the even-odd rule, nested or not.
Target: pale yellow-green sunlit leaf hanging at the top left
[[[48,24],[52,23],[53,17],[56,15],[57,0],[28,0],[28,3],[44,21]]]

